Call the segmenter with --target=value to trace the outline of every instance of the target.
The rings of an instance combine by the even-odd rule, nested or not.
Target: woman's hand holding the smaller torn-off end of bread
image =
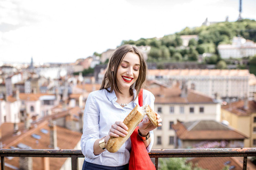
[[[160,115],[158,115],[156,112],[156,118],[157,118],[157,122],[158,122],[158,126],[162,126],[162,118],[160,118]],[[142,122],[140,122],[139,124],[139,130],[142,136],[146,136],[148,134],[149,131],[156,129],[156,126],[151,123],[151,121],[149,120],[148,116],[146,116]]]

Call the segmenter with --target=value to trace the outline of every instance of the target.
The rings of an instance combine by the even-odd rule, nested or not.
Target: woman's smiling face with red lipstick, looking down
[[[140,72],[140,58],[132,52],[127,53],[117,69],[117,83],[121,90],[130,89],[138,79]]]

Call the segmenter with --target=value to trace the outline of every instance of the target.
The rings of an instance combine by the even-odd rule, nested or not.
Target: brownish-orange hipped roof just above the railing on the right
[[[186,126],[187,125],[187,126]],[[173,125],[177,136],[182,140],[222,140],[246,139],[245,134],[230,129],[216,121],[195,121]]]

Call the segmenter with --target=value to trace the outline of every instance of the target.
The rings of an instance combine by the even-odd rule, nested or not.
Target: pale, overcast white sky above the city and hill
[[[256,19],[256,1],[242,17]],[[122,40],[163,37],[211,21],[236,21],[239,0],[1,0],[0,62],[73,63]]]

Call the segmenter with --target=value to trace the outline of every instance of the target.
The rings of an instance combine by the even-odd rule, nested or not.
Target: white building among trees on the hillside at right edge
[[[218,45],[222,58],[242,58],[256,55],[256,43],[243,37],[234,37],[232,44]]]

